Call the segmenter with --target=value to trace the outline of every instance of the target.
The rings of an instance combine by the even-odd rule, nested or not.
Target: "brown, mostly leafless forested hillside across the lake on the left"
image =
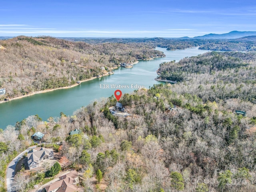
[[[9,98],[75,84],[102,74],[101,67],[107,72],[120,62],[165,56],[150,44],[88,44],[44,36],[18,36],[0,44],[0,88]]]

